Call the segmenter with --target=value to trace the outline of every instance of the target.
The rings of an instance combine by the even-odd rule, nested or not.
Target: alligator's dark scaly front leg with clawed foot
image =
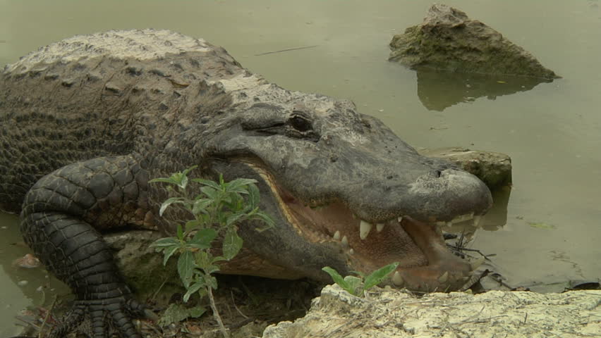
[[[142,315],[145,308],[132,298],[97,229],[139,222],[147,205],[147,180],[133,156],[95,158],[42,177],[28,192],[21,213],[23,238],[77,297],[49,337],[63,337],[86,315],[94,338],[107,337],[109,322],[121,337],[141,337],[131,316]]]

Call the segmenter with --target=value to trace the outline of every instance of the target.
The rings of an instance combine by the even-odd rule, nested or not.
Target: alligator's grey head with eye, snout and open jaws
[[[263,258],[254,264],[265,264],[250,273],[327,281],[326,265],[344,275],[399,262],[394,286],[444,291],[465,284],[471,265],[447,251],[437,225],[478,222],[490,208],[477,177],[420,156],[351,101],[289,92],[257,75],[218,85],[238,98],[238,114],[204,144],[224,159],[214,169],[259,180],[262,208],[277,219],[269,231],[241,228],[245,246]]]

